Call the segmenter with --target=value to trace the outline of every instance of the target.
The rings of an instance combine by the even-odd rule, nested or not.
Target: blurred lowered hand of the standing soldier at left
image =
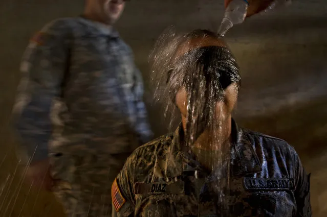
[[[54,180],[50,175],[49,159],[32,162],[26,172],[26,181],[37,189],[51,191]]]

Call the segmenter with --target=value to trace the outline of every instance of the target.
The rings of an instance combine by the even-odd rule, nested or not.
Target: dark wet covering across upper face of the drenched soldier
[[[204,79],[207,85],[214,85],[217,93],[241,81],[234,56],[221,46],[199,47],[179,57],[167,71],[166,83],[177,82],[179,85],[172,86],[191,87],[194,82],[200,82],[199,78]]]

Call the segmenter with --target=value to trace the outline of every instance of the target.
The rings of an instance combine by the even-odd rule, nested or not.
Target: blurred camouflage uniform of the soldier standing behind
[[[32,38],[21,71],[14,114],[28,156],[50,156],[69,216],[108,216],[105,186],[152,134],[132,51],[101,23],[62,18]]]

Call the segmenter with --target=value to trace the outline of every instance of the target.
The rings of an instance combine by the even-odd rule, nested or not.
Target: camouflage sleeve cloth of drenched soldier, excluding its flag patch
[[[117,176],[117,185],[121,192],[122,197],[125,199],[125,203],[116,212],[113,207],[113,216],[118,217],[131,217],[134,216],[135,212],[135,195],[134,195],[134,173],[136,167],[137,154],[134,152],[128,157],[126,163],[120,173]],[[114,200],[114,198],[113,198]]]

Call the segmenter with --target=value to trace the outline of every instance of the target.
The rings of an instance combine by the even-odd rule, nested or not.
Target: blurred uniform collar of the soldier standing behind
[[[119,33],[112,27],[105,25],[101,22],[97,22],[80,15],[80,20],[88,28],[88,32],[96,35],[107,35],[112,38],[118,38]]]

